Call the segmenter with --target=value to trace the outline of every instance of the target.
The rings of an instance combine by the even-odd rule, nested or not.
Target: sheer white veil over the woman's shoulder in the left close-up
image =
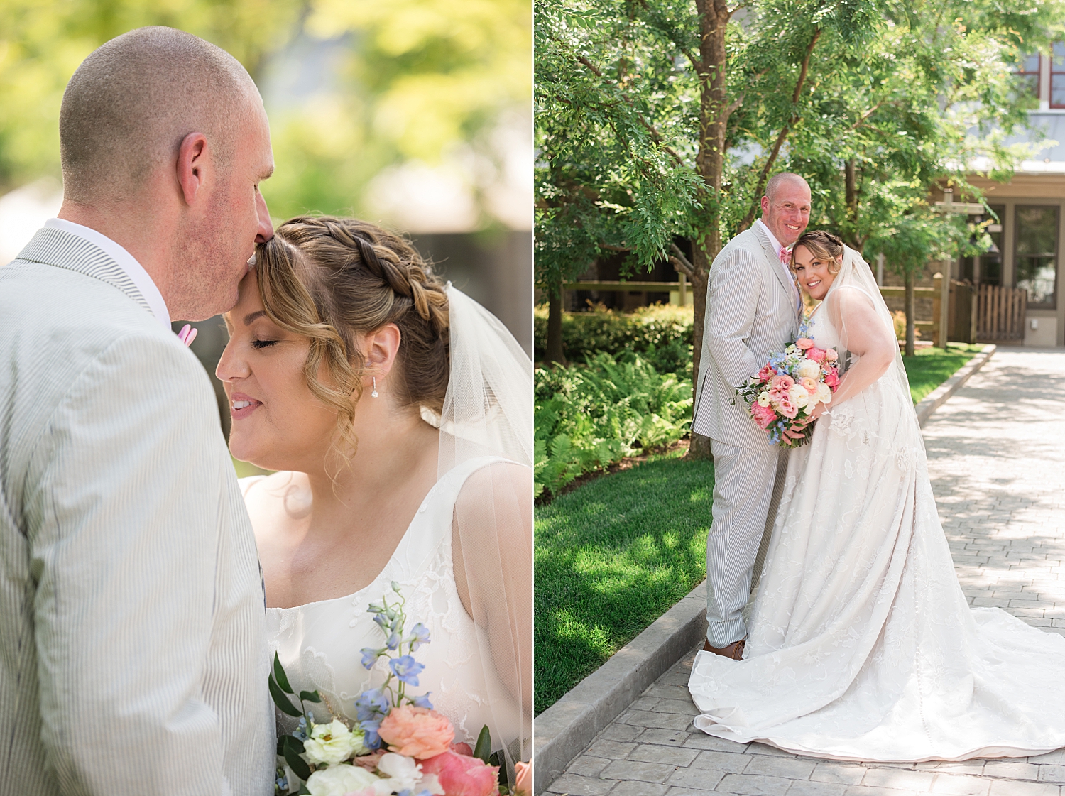
[[[497,457],[466,481],[453,519],[456,584],[469,595],[492,698],[501,780],[531,752],[532,362],[506,326],[447,283],[450,377],[438,420],[438,478]],[[461,558],[461,566],[459,559]],[[499,692],[486,684],[486,694]],[[476,732],[479,728],[475,728]],[[504,771],[506,769],[506,771]]]

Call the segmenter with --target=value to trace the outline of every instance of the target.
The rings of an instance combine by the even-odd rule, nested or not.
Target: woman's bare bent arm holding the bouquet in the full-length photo
[[[858,356],[839,380],[829,410],[852,399],[883,376],[899,351],[895,330],[876,314],[872,300],[855,288],[840,288],[826,299],[829,320],[847,351]]]

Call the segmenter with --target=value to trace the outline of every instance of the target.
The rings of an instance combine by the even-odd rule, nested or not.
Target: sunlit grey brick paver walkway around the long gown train
[[[924,440],[969,602],[1065,635],[1065,352],[999,348],[932,416]],[[1065,750],[962,763],[839,763],[711,737],[691,727],[693,657],[694,650],[648,688],[547,793],[1065,796]]]

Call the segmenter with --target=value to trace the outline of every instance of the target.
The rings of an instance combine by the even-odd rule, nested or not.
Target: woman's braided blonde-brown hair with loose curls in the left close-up
[[[365,355],[357,334],[399,328],[390,391],[400,406],[443,408],[449,373],[447,295],[407,241],[356,218],[300,215],[256,250],[259,294],[271,321],[310,340],[304,376],[339,417],[341,455],[354,451]],[[325,364],[328,383],[318,378]]]

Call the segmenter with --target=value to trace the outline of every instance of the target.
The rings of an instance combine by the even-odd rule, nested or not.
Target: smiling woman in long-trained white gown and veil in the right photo
[[[1025,757],[1065,746],[1065,638],[970,608],[936,514],[890,314],[868,264],[796,243],[819,348],[849,369],[790,454],[742,661],[708,652],[695,727],[838,760]]]

